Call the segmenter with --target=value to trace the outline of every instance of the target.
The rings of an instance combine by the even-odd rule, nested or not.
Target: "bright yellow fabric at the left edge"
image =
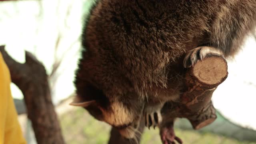
[[[10,91],[10,72],[0,52],[0,144],[26,144]]]

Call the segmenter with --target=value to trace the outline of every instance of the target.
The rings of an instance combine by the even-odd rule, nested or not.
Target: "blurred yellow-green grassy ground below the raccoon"
[[[74,108],[60,116],[62,131],[67,144],[107,144],[110,126],[92,118],[82,108]],[[198,133],[191,130],[175,130],[184,144],[256,144],[241,142],[232,138],[211,133]],[[144,131],[141,144],[161,144],[159,130]]]

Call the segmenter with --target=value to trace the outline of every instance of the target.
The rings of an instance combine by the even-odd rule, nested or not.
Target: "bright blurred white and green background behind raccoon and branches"
[[[49,75],[52,101],[67,144],[107,144],[110,126],[82,108],[69,106],[74,94],[74,72],[80,57],[82,21],[93,0],[17,0],[0,2],[0,45],[23,63],[25,50],[41,61]],[[249,36],[243,50],[228,60],[228,78],[212,97],[217,120],[192,130],[185,119],[175,124],[185,144],[256,144],[256,38]],[[28,144],[36,144],[26,118],[23,95],[11,85],[19,121]],[[145,130],[142,144],[161,144],[159,130]]]

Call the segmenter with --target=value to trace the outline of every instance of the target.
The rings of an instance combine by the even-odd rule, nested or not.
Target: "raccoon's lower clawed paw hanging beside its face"
[[[144,108],[145,125],[148,127],[148,129],[150,129],[150,126],[153,126],[155,128],[156,126],[159,126],[159,124],[162,122],[162,107],[163,104],[158,104],[155,106],[146,106]]]

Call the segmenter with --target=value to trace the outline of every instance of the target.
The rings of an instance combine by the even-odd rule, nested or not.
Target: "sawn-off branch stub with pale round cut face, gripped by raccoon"
[[[182,95],[182,104],[191,112],[186,118],[194,129],[203,128],[217,118],[211,102],[212,93],[227,76],[228,64],[219,55],[207,56],[186,73],[187,92]]]

